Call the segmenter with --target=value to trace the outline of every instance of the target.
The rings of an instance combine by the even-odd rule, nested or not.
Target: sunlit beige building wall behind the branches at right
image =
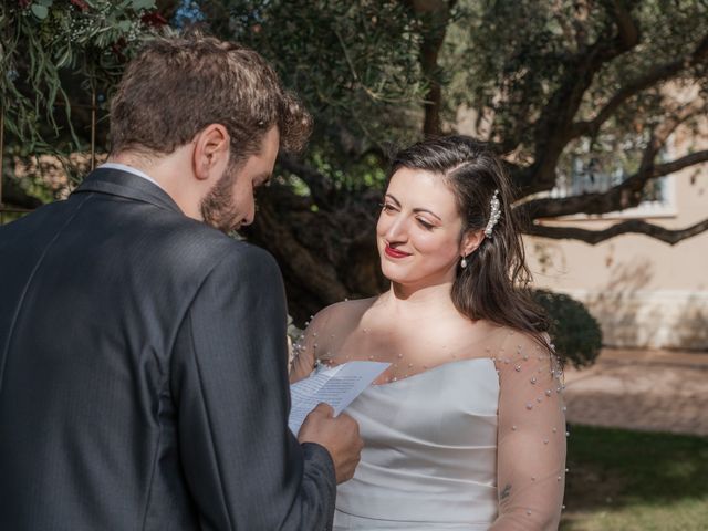
[[[638,217],[681,229],[708,218],[708,165],[667,176],[660,185],[657,200],[562,225],[594,230]],[[675,246],[643,235],[595,246],[529,237],[525,244],[535,285],[585,303],[605,345],[708,351],[708,232]]]

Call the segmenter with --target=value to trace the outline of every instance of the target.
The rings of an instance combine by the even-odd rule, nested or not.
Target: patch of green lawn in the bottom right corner
[[[708,438],[570,431],[561,531],[708,530]]]

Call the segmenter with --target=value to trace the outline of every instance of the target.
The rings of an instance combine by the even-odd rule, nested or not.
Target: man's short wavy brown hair
[[[258,153],[278,126],[285,150],[300,150],[312,118],[253,50],[192,33],[149,41],[111,104],[111,150],[166,155],[209,124],[231,137],[231,164]]]

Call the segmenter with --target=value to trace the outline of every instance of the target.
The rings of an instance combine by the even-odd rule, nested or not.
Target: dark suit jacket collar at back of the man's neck
[[[135,199],[183,214],[159,186],[128,171],[115,168],[94,169],[73,194],[98,192]]]

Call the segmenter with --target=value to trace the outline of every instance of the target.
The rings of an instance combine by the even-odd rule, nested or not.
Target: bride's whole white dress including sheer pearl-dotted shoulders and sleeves
[[[346,409],[364,449],[335,531],[558,531],[568,433],[550,340],[487,322],[404,333],[368,319],[372,304],[320,312],[293,368],[392,363]]]

